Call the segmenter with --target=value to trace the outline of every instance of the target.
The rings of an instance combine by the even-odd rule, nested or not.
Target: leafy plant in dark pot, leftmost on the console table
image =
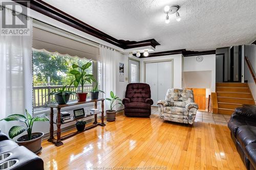
[[[70,95],[76,95],[76,92],[70,91],[70,86],[66,90],[66,86],[63,86],[61,89],[53,89],[48,95],[55,95],[55,100],[59,105],[67,104],[70,99]]]

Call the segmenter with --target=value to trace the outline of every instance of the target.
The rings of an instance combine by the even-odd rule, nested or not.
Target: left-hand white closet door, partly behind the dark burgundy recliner
[[[146,63],[145,64],[145,83],[150,85],[151,99],[154,101],[153,106],[157,106],[158,100],[158,64]]]

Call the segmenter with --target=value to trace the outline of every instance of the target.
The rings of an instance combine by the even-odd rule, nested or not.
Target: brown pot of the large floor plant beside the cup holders
[[[16,140],[16,143],[18,143],[18,145],[20,145],[20,146],[26,147],[27,149],[34,152],[35,154],[38,154],[42,150],[41,143],[42,143],[42,136],[44,136],[44,133],[34,132],[34,133],[32,133],[32,135],[33,134],[40,135],[40,136],[35,139],[28,140],[28,141],[19,141],[20,138],[22,138],[23,136],[28,136],[28,135],[23,135],[22,137],[19,137]]]

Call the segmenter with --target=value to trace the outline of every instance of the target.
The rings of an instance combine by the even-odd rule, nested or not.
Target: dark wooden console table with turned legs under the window
[[[50,104],[49,105],[49,107],[51,108],[50,109],[50,137],[49,137],[48,141],[53,142],[58,147],[59,145],[63,144],[63,142],[61,140],[67,139],[71,136],[74,136],[78,133],[81,133],[81,132],[72,132],[72,133],[67,134],[65,136],[61,136],[61,129],[60,129],[60,127],[62,125],[60,123],[60,109],[61,108],[94,102],[94,108],[97,109],[97,102],[98,101],[101,101],[101,110],[102,110],[102,112],[101,112],[101,123],[97,122],[97,114],[94,114],[94,123],[93,123],[93,125],[86,127],[84,129],[84,131],[86,131],[86,130],[92,129],[92,128],[98,126],[98,125],[102,126],[102,127],[105,126],[105,124],[104,124],[104,99],[87,100],[86,102],[69,102],[65,105]],[[57,121],[56,121],[56,123],[53,121],[53,114],[54,114],[53,113],[53,108],[57,109],[57,118],[56,118]],[[89,116],[92,116],[92,115],[89,115]],[[73,122],[73,121],[81,119],[81,118],[89,117],[89,116],[85,115],[83,117],[74,118],[70,122]],[[67,123],[70,123],[70,122],[67,122]],[[53,137],[53,124],[56,124],[56,126],[57,126],[57,139],[55,139]],[[66,123],[63,123],[63,124],[66,124]]]

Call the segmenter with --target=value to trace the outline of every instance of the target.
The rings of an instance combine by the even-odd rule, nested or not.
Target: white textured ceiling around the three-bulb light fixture
[[[156,51],[212,50],[256,39],[255,0],[43,0],[117,39],[155,38]],[[165,5],[181,6],[181,21],[164,22]]]

